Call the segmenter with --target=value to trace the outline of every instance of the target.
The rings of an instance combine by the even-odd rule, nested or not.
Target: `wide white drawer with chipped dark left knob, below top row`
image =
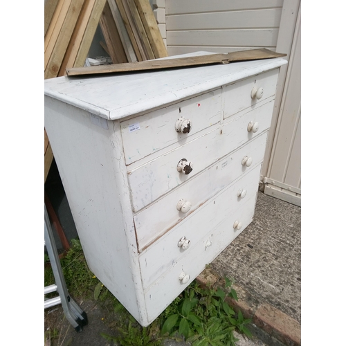
[[[268,102],[225,123],[219,129],[130,170],[128,180],[132,210],[138,212],[249,140],[261,136],[271,125],[273,105],[274,101]],[[250,122],[253,122],[257,131],[248,131]],[[192,172],[188,175],[177,170],[183,158],[193,164]]]

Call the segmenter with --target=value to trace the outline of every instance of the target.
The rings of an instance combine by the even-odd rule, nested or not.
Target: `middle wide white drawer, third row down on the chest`
[[[262,162],[266,149],[266,135],[267,132],[134,215],[138,251],[143,251],[183,219],[194,214],[208,199],[243,176],[244,172]],[[250,167],[242,165],[244,156],[253,161]],[[259,177],[260,173],[251,179],[258,183]],[[188,212],[177,210],[177,203],[181,199],[186,199],[191,204]]]

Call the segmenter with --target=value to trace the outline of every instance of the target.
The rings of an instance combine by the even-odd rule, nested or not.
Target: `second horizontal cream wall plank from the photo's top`
[[[278,28],[281,8],[167,16],[166,30]]]

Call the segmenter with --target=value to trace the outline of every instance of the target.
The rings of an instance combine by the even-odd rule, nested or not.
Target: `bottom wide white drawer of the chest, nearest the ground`
[[[145,291],[147,316],[151,323],[193,280],[199,275],[206,264],[209,264],[221,251],[237,237],[253,220],[257,193],[253,194],[238,210],[228,215],[205,237],[199,240],[190,252],[179,262],[172,263],[172,268],[161,276]],[[241,221],[242,229],[233,228],[235,221]],[[160,261],[161,258],[157,257]],[[190,275],[187,282],[181,282],[179,276]],[[187,277],[188,278],[188,277]]]

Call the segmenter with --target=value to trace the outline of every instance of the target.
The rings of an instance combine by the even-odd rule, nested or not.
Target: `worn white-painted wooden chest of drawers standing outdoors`
[[[141,325],[251,223],[285,63],[45,81],[86,261]]]

